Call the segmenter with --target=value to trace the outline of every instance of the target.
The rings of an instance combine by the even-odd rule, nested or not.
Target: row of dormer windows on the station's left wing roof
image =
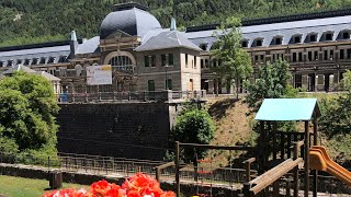
[[[31,66],[31,65],[45,65],[45,63],[54,63],[56,61],[56,57],[42,57],[42,58],[33,58],[33,59],[10,59],[7,61],[0,61],[0,67],[5,66],[14,66],[14,65],[23,65],[23,66]],[[57,62],[68,62],[67,56],[60,56]]]

